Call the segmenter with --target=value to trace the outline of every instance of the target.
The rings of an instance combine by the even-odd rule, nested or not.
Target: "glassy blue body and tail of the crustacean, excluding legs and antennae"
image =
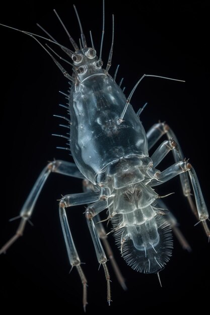
[[[92,67],[92,60],[87,64]],[[122,90],[103,69],[83,76],[69,96],[70,147],[94,190],[109,188],[109,218],[125,261],[137,271],[158,272],[171,254],[170,228],[154,208],[158,195],[147,185],[148,171],[158,170],[148,157],[145,129],[130,104],[124,121],[118,121],[125,104]]]

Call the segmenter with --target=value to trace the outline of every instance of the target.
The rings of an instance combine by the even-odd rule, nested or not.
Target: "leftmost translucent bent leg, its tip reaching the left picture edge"
[[[15,235],[2,247],[2,249],[0,250],[0,255],[2,253],[5,253],[8,250],[8,248],[19,237],[23,235],[26,222],[28,219],[30,219],[33,213],[37,198],[39,197],[39,194],[51,172],[63,174],[66,176],[84,178],[84,176],[80,173],[80,171],[78,170],[77,166],[74,163],[69,163],[69,162],[60,161],[60,160],[49,163],[39,175],[28,198],[26,199],[21,209],[21,212],[20,212],[21,222],[18,226],[18,229]]]

